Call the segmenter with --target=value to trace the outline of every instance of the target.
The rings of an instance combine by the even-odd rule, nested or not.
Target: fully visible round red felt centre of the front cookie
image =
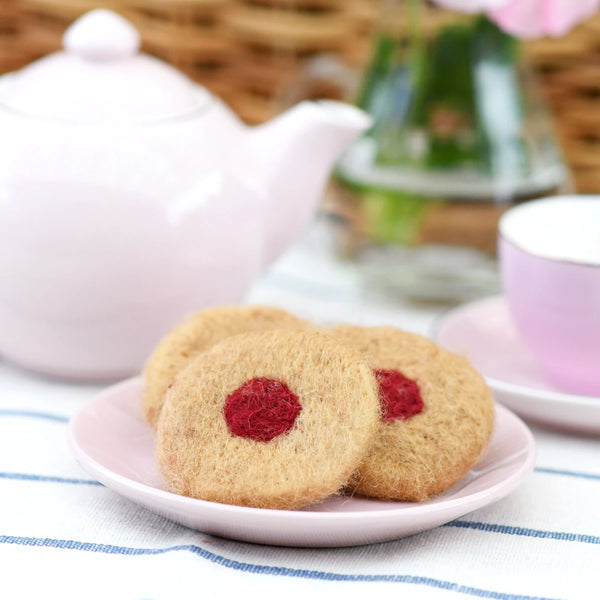
[[[302,406],[285,383],[268,377],[246,381],[225,401],[225,421],[241,437],[268,442],[288,432]]]

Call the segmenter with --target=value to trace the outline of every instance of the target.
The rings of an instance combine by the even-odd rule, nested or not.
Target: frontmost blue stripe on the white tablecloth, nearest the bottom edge
[[[434,587],[477,598],[492,598],[494,600],[558,600],[541,596],[524,596],[509,594],[494,590],[485,590],[471,586],[461,585],[452,581],[422,577],[420,575],[360,575],[348,573],[334,573],[330,571],[309,571],[306,569],[292,569],[289,567],[276,567],[240,562],[209,552],[200,546],[192,544],[169,546],[167,548],[133,548],[129,546],[115,546],[112,544],[96,544],[92,542],[79,542],[76,540],[59,540],[52,538],[18,537],[11,535],[0,536],[0,544],[16,544],[21,546],[38,546],[44,548],[57,548],[60,550],[79,550],[83,552],[97,552],[101,554],[116,554],[121,556],[159,555],[169,552],[192,552],[210,562],[219,564],[228,569],[244,571],[259,575],[276,575],[284,577],[298,577],[302,579],[318,579],[323,581],[350,581],[350,582],[389,582],[408,583]]]

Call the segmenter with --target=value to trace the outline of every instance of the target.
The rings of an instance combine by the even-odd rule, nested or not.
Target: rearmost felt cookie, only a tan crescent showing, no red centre
[[[222,306],[188,317],[161,340],[145,365],[142,408],[146,421],[156,427],[175,375],[221,340],[248,331],[310,327],[284,310],[264,306]]]

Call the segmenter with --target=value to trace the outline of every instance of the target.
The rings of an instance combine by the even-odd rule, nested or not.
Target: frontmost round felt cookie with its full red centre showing
[[[293,509],[338,492],[379,425],[375,377],[318,332],[245,333],[179,373],[158,422],[169,491]]]

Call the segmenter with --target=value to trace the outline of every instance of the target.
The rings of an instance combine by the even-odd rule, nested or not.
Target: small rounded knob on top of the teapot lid
[[[86,13],[67,29],[63,47],[88,60],[128,58],[139,52],[140,34],[120,15],[100,8]]]

